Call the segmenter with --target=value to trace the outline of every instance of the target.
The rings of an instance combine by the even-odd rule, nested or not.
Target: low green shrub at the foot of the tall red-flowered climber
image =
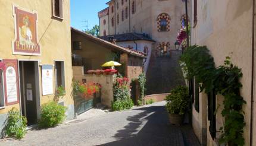
[[[132,99],[117,100],[111,104],[111,109],[114,111],[131,109],[132,107],[133,107]]]

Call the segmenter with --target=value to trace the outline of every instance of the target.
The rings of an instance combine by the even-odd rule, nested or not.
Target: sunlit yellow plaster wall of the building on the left
[[[12,41],[14,34],[13,5],[29,11],[38,12],[38,42],[41,49],[41,56],[13,55]],[[25,59],[27,61],[39,61],[39,64],[54,65],[54,61],[64,61],[65,67],[65,90],[64,105],[74,104],[71,94],[72,70],[71,68],[71,45],[70,45],[70,1],[63,1],[63,20],[52,18],[52,1],[0,1],[0,58],[3,59]],[[60,37],[61,36],[61,37]],[[39,85],[42,85],[41,66],[39,69]],[[53,78],[55,91],[55,77]],[[40,87],[40,104],[54,99],[54,94],[42,96]],[[7,113],[12,107],[20,109],[19,104],[5,106],[0,109],[0,114]],[[71,110],[71,109],[70,109]]]

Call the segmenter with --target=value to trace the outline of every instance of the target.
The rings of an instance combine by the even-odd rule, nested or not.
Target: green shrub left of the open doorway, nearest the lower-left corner
[[[27,119],[20,115],[20,112],[13,108],[8,112],[6,132],[8,137],[21,139],[27,133]]]

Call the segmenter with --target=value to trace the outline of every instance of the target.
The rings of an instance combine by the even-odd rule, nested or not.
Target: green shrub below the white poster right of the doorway
[[[61,106],[54,101],[44,104],[41,107],[41,119],[39,126],[49,128],[58,125],[65,119],[65,111],[67,107]]]

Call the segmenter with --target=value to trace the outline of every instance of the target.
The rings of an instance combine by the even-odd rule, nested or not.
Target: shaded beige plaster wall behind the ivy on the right
[[[252,1],[201,0],[198,1],[198,23],[195,28],[192,28],[191,32],[192,44],[206,45],[214,57],[216,66],[223,65],[226,56],[230,56],[232,63],[242,69],[243,77],[241,78],[241,82],[243,88],[241,89],[241,96],[247,103],[243,106],[246,122],[246,126],[243,129],[245,145],[249,145],[249,119],[251,109],[251,28]],[[223,98],[217,96],[217,105],[223,105],[222,101]],[[221,111],[221,109],[219,110]],[[216,116],[218,130],[223,124],[223,118],[220,112],[217,112]],[[207,132],[207,144],[217,145],[217,140],[213,141],[209,135],[209,132]],[[217,133],[217,139],[219,135]],[[256,145],[255,138],[254,128],[253,145]]]

